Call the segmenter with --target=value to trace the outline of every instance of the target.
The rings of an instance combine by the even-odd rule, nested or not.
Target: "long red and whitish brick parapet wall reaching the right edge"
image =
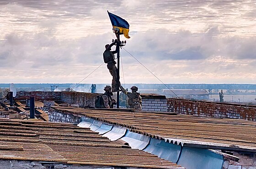
[[[228,117],[256,121],[256,106],[170,98],[167,111],[193,116]]]

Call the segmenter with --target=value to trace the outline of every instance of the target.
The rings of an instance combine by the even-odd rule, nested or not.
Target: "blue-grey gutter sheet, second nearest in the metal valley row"
[[[151,138],[149,145],[143,150],[176,163],[181,153],[181,145],[166,143],[163,139]]]

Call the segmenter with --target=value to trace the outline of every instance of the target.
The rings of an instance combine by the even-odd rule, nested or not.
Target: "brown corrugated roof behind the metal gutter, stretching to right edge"
[[[119,111],[64,107],[54,109],[127,127],[132,132],[163,138],[170,143],[256,152],[256,123],[253,121],[141,111],[128,112],[122,109]]]

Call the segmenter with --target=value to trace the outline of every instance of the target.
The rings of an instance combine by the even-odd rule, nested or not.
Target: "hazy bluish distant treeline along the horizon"
[[[96,84],[97,89],[103,89],[110,84]],[[125,84],[126,88],[137,86],[139,89],[167,89],[164,84]],[[223,89],[223,90],[256,90],[256,84],[166,84],[170,89]],[[51,88],[51,86],[59,86],[59,88],[69,88],[75,84],[15,84],[16,88]],[[0,88],[9,88],[10,84],[0,84]],[[78,84],[75,88],[90,88],[91,84]]]

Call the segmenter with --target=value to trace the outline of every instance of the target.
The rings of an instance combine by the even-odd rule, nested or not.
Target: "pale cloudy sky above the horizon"
[[[0,0],[0,83],[78,83],[124,47],[165,84],[256,84],[256,0]],[[112,47],[114,49],[114,47]],[[120,81],[161,83],[121,49]],[[81,83],[111,83],[104,63]]]

